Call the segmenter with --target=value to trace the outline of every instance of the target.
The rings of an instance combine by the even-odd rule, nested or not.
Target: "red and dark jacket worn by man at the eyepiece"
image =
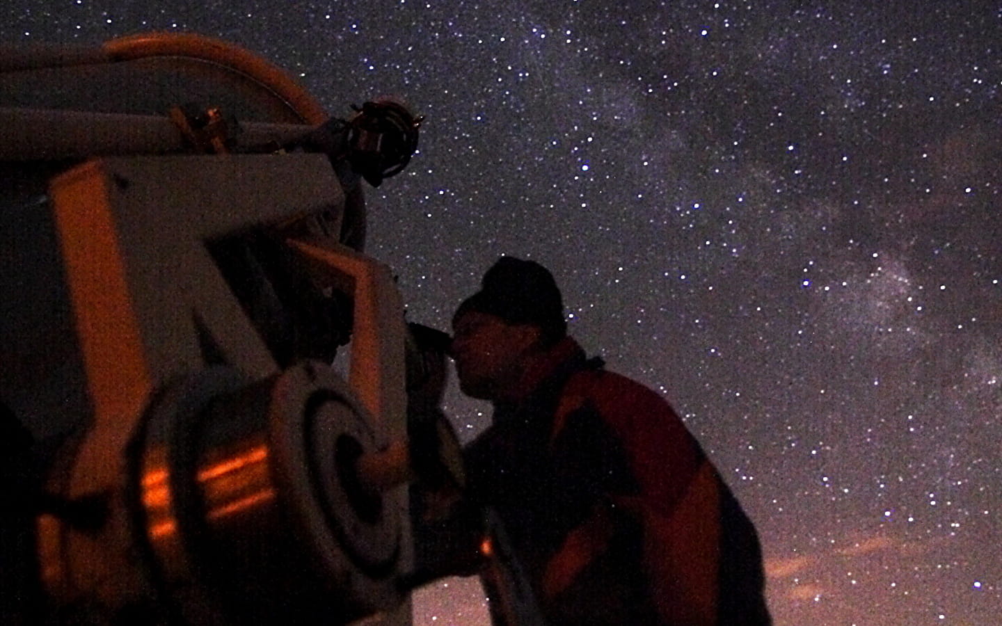
[[[552,625],[770,624],[748,518],[671,407],[570,339],[465,451]]]

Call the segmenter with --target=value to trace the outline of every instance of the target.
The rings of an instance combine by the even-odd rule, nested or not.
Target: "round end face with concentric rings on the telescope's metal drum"
[[[311,551],[346,600],[397,605],[405,490],[367,492],[355,462],[386,446],[348,384],[331,368],[304,363],[278,380],[270,415],[276,480]]]

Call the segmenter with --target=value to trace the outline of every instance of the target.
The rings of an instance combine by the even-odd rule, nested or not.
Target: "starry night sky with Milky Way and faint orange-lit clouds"
[[[180,8],[178,8],[180,7]],[[186,7],[186,8],[185,8]],[[1002,2],[9,0],[0,42],[222,37],[426,116],[367,251],[448,329],[500,255],[662,392],[778,626],[1002,614]],[[464,437],[489,407],[450,394]],[[486,623],[469,581],[416,624]]]

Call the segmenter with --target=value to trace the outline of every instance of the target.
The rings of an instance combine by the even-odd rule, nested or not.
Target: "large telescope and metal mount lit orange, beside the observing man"
[[[4,623],[409,624],[409,332],[361,183],[420,117],[194,34],[0,51]]]

